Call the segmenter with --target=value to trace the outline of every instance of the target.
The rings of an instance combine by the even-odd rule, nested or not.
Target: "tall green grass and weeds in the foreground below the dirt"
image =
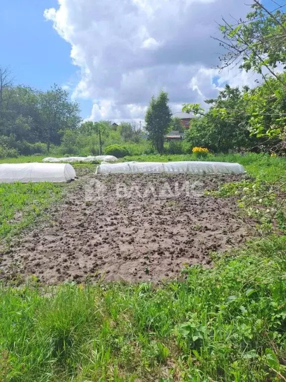
[[[2,286],[0,380],[282,381],[285,247],[261,239],[158,287]]]

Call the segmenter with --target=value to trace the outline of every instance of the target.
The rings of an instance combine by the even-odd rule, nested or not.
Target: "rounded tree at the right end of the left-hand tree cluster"
[[[51,143],[60,143],[60,130],[78,127],[79,106],[71,102],[68,92],[54,85],[48,92],[39,92],[39,107],[43,126],[41,138],[47,143],[49,152]]]

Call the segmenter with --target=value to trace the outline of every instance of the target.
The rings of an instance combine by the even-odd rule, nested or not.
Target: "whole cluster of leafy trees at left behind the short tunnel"
[[[77,103],[71,102],[61,87],[54,85],[47,92],[41,92],[10,84],[2,89],[0,140],[5,140],[9,149],[16,149],[20,154],[49,151],[51,144],[60,144],[61,130],[75,129],[79,122]],[[33,147],[35,144],[39,149]],[[46,144],[45,150],[43,144]]]

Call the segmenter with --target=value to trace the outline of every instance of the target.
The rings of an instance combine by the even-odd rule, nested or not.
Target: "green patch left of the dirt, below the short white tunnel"
[[[0,184],[0,239],[31,225],[62,191],[62,184],[50,182]]]

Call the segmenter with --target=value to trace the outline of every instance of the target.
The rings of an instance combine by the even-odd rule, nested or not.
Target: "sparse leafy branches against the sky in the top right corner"
[[[216,38],[227,50],[220,57],[222,68],[239,65],[246,71],[260,73],[266,79],[268,73],[276,77],[275,69],[278,63],[286,69],[286,14],[283,6],[275,10],[267,7],[259,0],[253,0],[252,12],[246,15],[246,20],[235,20],[228,23],[224,18],[219,26],[222,39]]]

